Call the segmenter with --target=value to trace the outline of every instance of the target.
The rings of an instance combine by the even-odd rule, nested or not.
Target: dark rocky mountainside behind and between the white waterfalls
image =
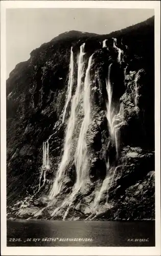
[[[124,51],[118,63],[113,39]],[[108,48],[102,42],[108,39]],[[54,216],[56,207],[76,182],[76,166],[67,170],[64,187],[56,205],[49,206],[49,191],[63,153],[65,122],[62,112],[66,100],[71,47],[74,53],[74,95],[77,86],[77,59],[85,42],[87,60],[94,53],[90,69],[91,117],[86,134],[89,153],[89,178],[86,190],[76,195],[66,218],[86,219],[92,214],[97,189],[107,175],[108,156],[116,155],[110,143],[106,119],[107,92],[105,79],[109,65],[112,102],[124,106],[124,124],[120,129],[120,160],[108,191],[100,200],[95,220],[154,219],[154,17],[109,35],[70,31],[31,52],[19,63],[7,80],[7,203],[8,217],[62,219],[66,208]],[[87,68],[85,61],[85,67]],[[82,78],[84,79],[84,77]],[[78,137],[83,112],[81,109],[75,131]],[[42,143],[50,139],[50,169],[38,191],[42,166]],[[114,160],[111,160],[114,161]],[[119,167],[120,165],[120,167]]]

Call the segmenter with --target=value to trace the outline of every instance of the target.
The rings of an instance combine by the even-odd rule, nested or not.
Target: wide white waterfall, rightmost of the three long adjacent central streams
[[[88,67],[85,73],[84,80],[84,92],[83,92],[83,109],[84,118],[81,124],[81,129],[78,138],[78,144],[75,154],[75,166],[76,166],[76,183],[74,185],[71,196],[67,199],[68,208],[64,214],[63,220],[65,220],[68,210],[73,203],[73,200],[78,193],[78,191],[85,187],[85,184],[89,181],[89,161],[88,161],[88,151],[86,134],[88,126],[90,124],[90,67],[92,64],[93,54],[89,57]],[[64,205],[64,204],[63,204]]]

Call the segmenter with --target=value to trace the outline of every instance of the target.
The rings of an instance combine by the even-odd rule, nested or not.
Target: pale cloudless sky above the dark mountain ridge
[[[153,15],[153,9],[7,9],[7,78],[17,63],[29,59],[32,50],[60,33],[108,34]]]

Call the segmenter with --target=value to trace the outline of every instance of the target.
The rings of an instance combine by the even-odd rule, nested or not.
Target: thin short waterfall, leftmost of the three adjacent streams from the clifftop
[[[67,109],[68,103],[70,102],[71,97],[72,97],[73,73],[74,73],[74,56],[73,56],[73,47],[71,47],[70,77],[68,79],[67,99],[66,99],[66,102],[65,102],[65,107],[64,107],[63,117],[62,117],[62,123],[64,122],[64,119],[65,119],[66,109]]]

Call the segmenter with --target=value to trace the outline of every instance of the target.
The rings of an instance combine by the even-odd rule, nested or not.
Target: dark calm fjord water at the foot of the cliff
[[[8,220],[7,246],[155,246],[155,222]]]

